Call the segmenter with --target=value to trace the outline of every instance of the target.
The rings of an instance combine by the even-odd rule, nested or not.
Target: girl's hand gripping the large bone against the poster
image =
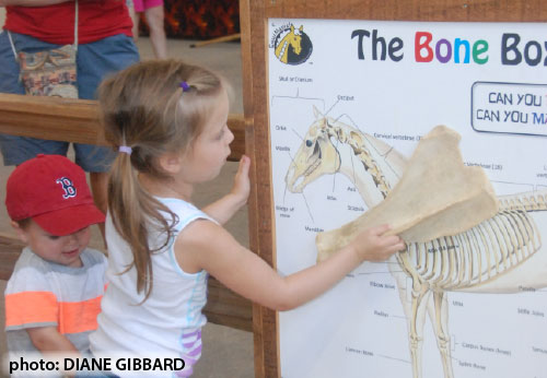
[[[389,226],[371,227],[360,233],[351,243],[360,260],[384,261],[393,253],[404,250],[405,243],[397,235],[385,236]]]

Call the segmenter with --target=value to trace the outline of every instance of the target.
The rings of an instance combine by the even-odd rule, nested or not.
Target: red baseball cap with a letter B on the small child
[[[31,217],[51,235],[63,236],[105,221],[91,197],[85,173],[61,155],[24,162],[10,177],[5,208],[13,221]]]

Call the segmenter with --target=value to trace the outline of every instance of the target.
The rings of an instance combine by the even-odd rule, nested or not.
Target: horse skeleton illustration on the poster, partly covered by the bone
[[[316,120],[288,169],[287,188],[301,192],[321,176],[340,173],[369,209],[379,204],[403,175],[406,158],[383,141],[314,111]],[[342,144],[361,162],[361,172],[341,157]],[[388,267],[407,318],[414,378],[422,376],[426,314],[431,317],[444,377],[454,377],[446,292],[519,293],[523,287],[547,286],[547,250],[540,238],[540,229],[547,229],[547,191],[502,196],[498,202],[498,213],[475,227],[408,244],[389,260],[395,262]]]

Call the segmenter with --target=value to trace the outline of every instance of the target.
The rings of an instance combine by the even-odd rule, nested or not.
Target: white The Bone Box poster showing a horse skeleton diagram
[[[268,31],[281,274],[316,263],[318,232],[382,201],[438,125],[504,198],[480,227],[411,246],[410,268],[365,262],[279,314],[281,376],[547,377],[547,25],[270,19]]]

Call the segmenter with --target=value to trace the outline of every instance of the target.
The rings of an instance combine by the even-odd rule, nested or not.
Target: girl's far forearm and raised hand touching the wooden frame
[[[251,184],[248,179],[249,166],[251,158],[243,155],[230,193],[201,209],[220,224],[226,223],[237,212],[237,210],[247,203],[248,193],[251,191]]]

